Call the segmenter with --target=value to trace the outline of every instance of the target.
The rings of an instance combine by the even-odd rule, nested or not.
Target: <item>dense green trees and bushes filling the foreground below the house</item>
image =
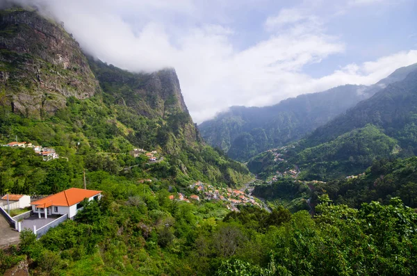
[[[222,220],[217,204],[165,199],[108,193],[38,241],[22,232],[1,268],[26,255],[35,275],[416,275],[417,214],[398,198],[358,211],[323,196],[316,218],[243,208]]]

